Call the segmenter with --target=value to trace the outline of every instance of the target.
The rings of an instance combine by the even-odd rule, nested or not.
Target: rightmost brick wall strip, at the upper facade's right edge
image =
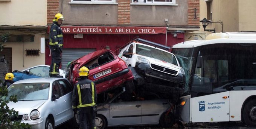
[[[199,19],[199,11],[200,11],[200,6],[199,6],[199,0],[188,0],[188,25],[199,25],[200,24],[200,19]],[[196,10],[196,17],[195,17],[195,8]]]

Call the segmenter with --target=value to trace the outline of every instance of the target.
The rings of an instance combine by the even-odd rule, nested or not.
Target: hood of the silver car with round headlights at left
[[[43,105],[47,100],[36,100],[36,101],[18,101],[18,102],[9,102],[8,106],[10,109],[14,108],[15,111],[18,111],[20,115],[30,114],[34,109],[38,109]]]

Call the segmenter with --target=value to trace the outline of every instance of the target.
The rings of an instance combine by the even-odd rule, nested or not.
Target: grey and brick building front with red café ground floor
[[[47,24],[56,13],[65,18],[64,68],[95,50],[118,54],[137,36],[166,46],[183,42],[185,33],[199,30],[199,11],[199,0],[47,0]],[[46,64],[49,55],[46,48]]]

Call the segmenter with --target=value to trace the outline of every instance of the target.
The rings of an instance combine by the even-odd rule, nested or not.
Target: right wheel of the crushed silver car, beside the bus
[[[172,127],[175,122],[173,114],[170,112],[168,115],[166,113],[163,113],[159,120],[159,125],[163,128]]]

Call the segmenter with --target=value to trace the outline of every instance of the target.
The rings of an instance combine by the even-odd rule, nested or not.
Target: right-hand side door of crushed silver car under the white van
[[[168,99],[152,99],[142,101],[141,123],[158,123],[161,115],[170,108]]]

